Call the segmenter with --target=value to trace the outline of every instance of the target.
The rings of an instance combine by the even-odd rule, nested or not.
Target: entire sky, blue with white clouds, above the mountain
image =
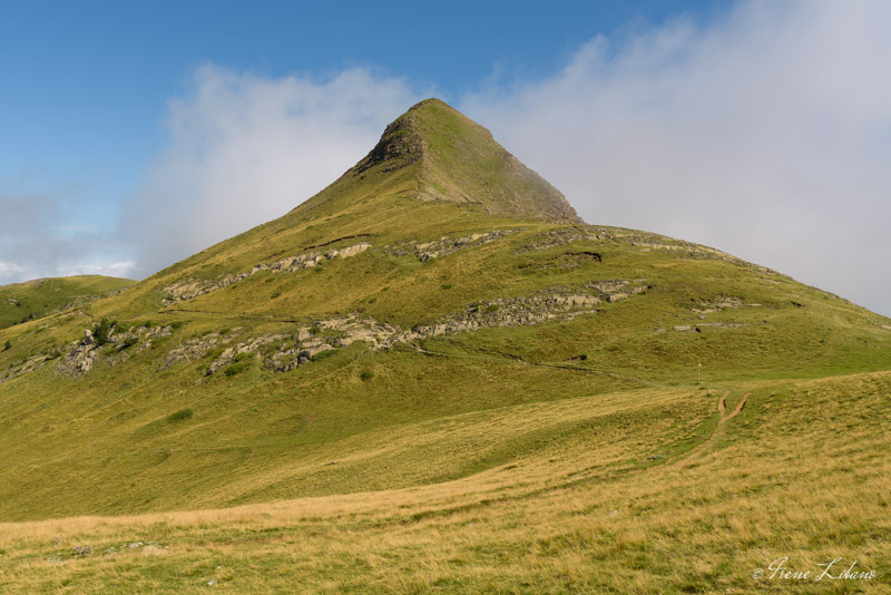
[[[891,314],[890,28],[882,0],[0,3],[0,283],[150,274],[438,96],[590,223]]]

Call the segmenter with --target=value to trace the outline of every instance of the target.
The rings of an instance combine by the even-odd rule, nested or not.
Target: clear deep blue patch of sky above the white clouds
[[[496,72],[540,77],[597,33],[712,2],[8,2],[0,179],[63,189],[78,225],[117,215],[166,142],[166,105],[206,64],[265,77],[366,67],[444,98]],[[77,218],[81,215],[76,214]]]

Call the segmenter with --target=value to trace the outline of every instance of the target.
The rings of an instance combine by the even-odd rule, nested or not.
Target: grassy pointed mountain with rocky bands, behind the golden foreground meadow
[[[0,519],[457,480],[589,428],[488,441],[462,426],[474,416],[679,391],[699,363],[709,383],[891,368],[891,320],[712,247],[585,224],[435,99],[281,218],[7,341]],[[399,439],[438,423],[467,433]]]

